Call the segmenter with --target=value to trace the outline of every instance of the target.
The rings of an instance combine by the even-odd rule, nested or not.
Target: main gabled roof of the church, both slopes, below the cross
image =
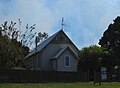
[[[32,50],[31,53],[29,53],[25,58],[28,58],[40,51],[42,51],[60,32],[63,32],[63,30],[60,30],[58,32],[56,32],[55,34],[53,34],[52,36],[50,36],[48,39],[44,40],[42,43],[40,43],[37,46],[37,51],[36,48]],[[64,32],[63,32],[64,33]],[[65,34],[65,33],[64,33]],[[66,34],[65,34],[66,35]],[[67,36],[67,35],[66,35]],[[68,36],[67,36],[68,37]],[[69,39],[69,38],[68,38]],[[70,40],[70,39],[69,39]],[[71,41],[71,40],[70,40]],[[71,41],[72,42],[72,41]],[[72,42],[72,44],[74,45],[74,43]],[[75,46],[75,45],[74,45]],[[76,47],[76,46],[75,46]],[[76,47],[76,49],[78,50],[78,48]]]

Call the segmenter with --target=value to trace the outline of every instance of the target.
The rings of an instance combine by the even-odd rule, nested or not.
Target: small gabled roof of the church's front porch
[[[66,50],[69,50],[69,51],[74,55],[74,57],[76,57],[75,59],[78,59],[78,57],[77,57],[77,56],[75,55],[75,53],[70,49],[70,47],[67,46],[67,47],[62,48],[51,60],[58,59]]]

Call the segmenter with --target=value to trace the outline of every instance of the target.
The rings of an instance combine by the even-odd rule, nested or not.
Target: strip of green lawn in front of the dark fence
[[[2,83],[0,88],[120,88],[120,83]]]

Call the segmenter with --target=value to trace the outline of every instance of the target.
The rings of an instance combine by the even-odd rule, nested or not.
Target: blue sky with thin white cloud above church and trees
[[[0,24],[4,21],[22,20],[36,24],[36,32],[49,36],[61,29],[81,49],[98,45],[99,39],[110,23],[120,15],[120,0],[0,0]]]

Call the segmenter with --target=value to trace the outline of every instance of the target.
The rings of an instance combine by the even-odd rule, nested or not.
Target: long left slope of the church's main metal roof
[[[61,31],[61,30],[60,30],[60,31]],[[46,40],[44,40],[42,43],[40,43],[40,44],[37,46],[37,51],[36,51],[36,48],[34,48],[34,49],[32,50],[32,52],[29,53],[25,58],[28,58],[28,57],[32,56],[33,54],[41,51],[47,44],[50,43],[50,41],[52,41],[53,38],[56,37],[56,35],[57,35],[60,31],[58,31],[57,33],[55,33],[54,35],[50,36],[48,39],[46,39]]]

